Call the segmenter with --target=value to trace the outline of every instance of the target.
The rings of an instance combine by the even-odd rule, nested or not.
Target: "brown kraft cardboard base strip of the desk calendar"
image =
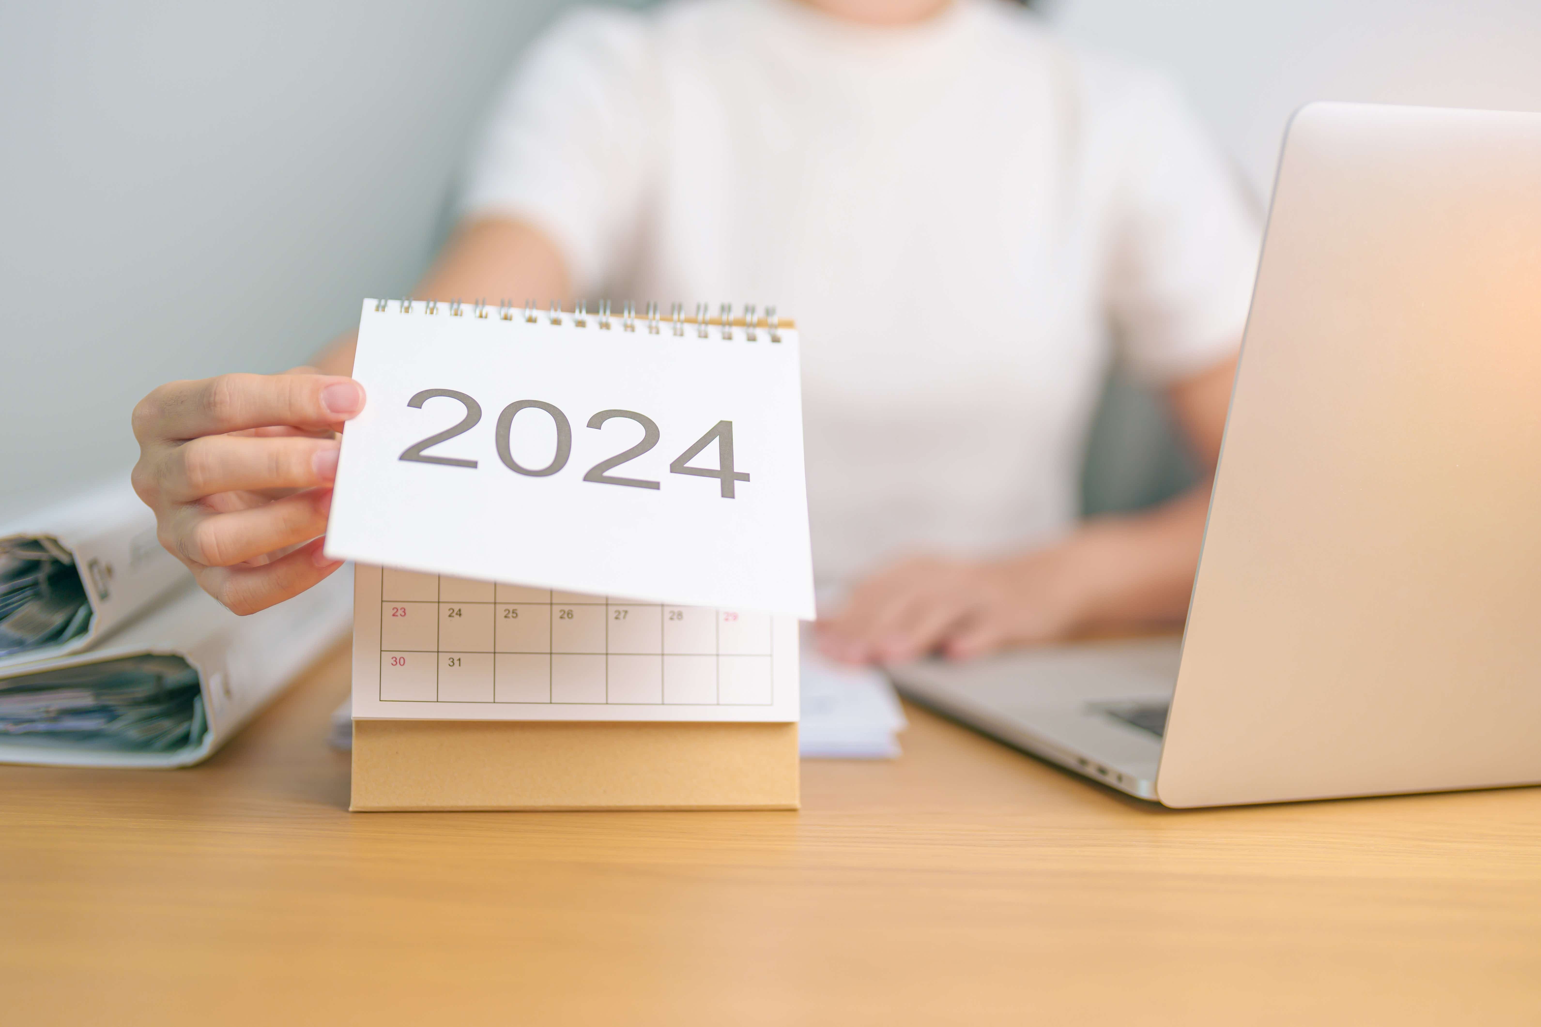
[[[797,724],[354,721],[354,811],[795,810]]]

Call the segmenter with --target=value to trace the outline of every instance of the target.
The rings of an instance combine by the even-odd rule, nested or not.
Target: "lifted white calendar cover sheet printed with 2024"
[[[795,331],[482,313],[365,302],[328,554],[814,617]]]

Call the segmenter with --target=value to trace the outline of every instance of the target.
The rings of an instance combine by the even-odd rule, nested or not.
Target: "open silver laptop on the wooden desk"
[[[1285,134],[1182,639],[891,668],[1168,807],[1541,782],[1541,114]]]

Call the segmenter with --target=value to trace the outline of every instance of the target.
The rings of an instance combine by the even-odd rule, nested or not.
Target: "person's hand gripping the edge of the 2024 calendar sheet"
[[[336,431],[364,410],[348,377],[222,374],[162,385],[134,408],[134,491],[160,544],[233,611],[256,613],[341,567],[322,556]]]

